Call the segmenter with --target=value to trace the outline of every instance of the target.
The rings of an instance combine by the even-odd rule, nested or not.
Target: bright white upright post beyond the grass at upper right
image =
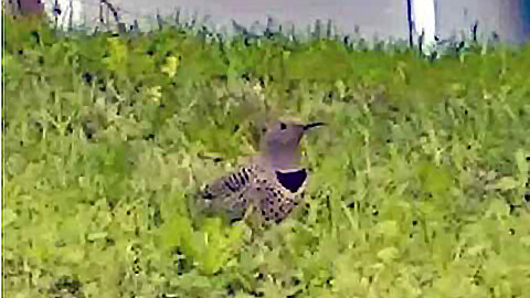
[[[423,52],[430,54],[436,44],[435,0],[407,0],[411,3],[411,21],[413,22],[415,41],[423,34]]]

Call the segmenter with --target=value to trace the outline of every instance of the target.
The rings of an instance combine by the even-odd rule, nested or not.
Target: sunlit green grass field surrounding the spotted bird
[[[530,46],[6,25],[7,297],[530,297]],[[329,124],[307,204],[191,216],[280,116]]]

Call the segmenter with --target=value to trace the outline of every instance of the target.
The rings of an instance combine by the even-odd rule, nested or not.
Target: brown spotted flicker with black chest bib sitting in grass
[[[259,155],[206,185],[200,192],[202,199],[211,210],[227,212],[232,222],[242,220],[250,209],[262,222],[282,222],[304,196],[308,172],[299,164],[301,137],[321,125],[272,123],[259,140]]]

